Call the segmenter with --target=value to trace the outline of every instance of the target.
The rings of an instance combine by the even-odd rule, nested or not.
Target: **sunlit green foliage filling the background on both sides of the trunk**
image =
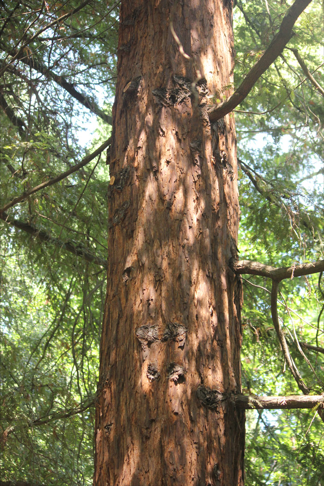
[[[288,7],[236,3],[236,87]],[[109,137],[118,8],[97,1],[1,2],[2,208],[73,170]],[[321,81],[319,19],[320,3],[313,0],[282,56],[236,109],[241,260],[281,267],[323,255],[323,103],[314,84]],[[86,150],[80,125],[93,131],[96,119],[106,127],[104,136]],[[94,166],[90,161],[1,212],[10,223],[2,225],[1,245],[3,481],[91,482],[108,178],[103,158]],[[258,395],[298,393],[273,329],[269,280],[253,276],[243,285],[243,386]],[[323,393],[321,277],[284,280],[280,290],[290,354],[311,393]],[[247,417],[247,484],[320,484],[323,446],[315,411]]]

